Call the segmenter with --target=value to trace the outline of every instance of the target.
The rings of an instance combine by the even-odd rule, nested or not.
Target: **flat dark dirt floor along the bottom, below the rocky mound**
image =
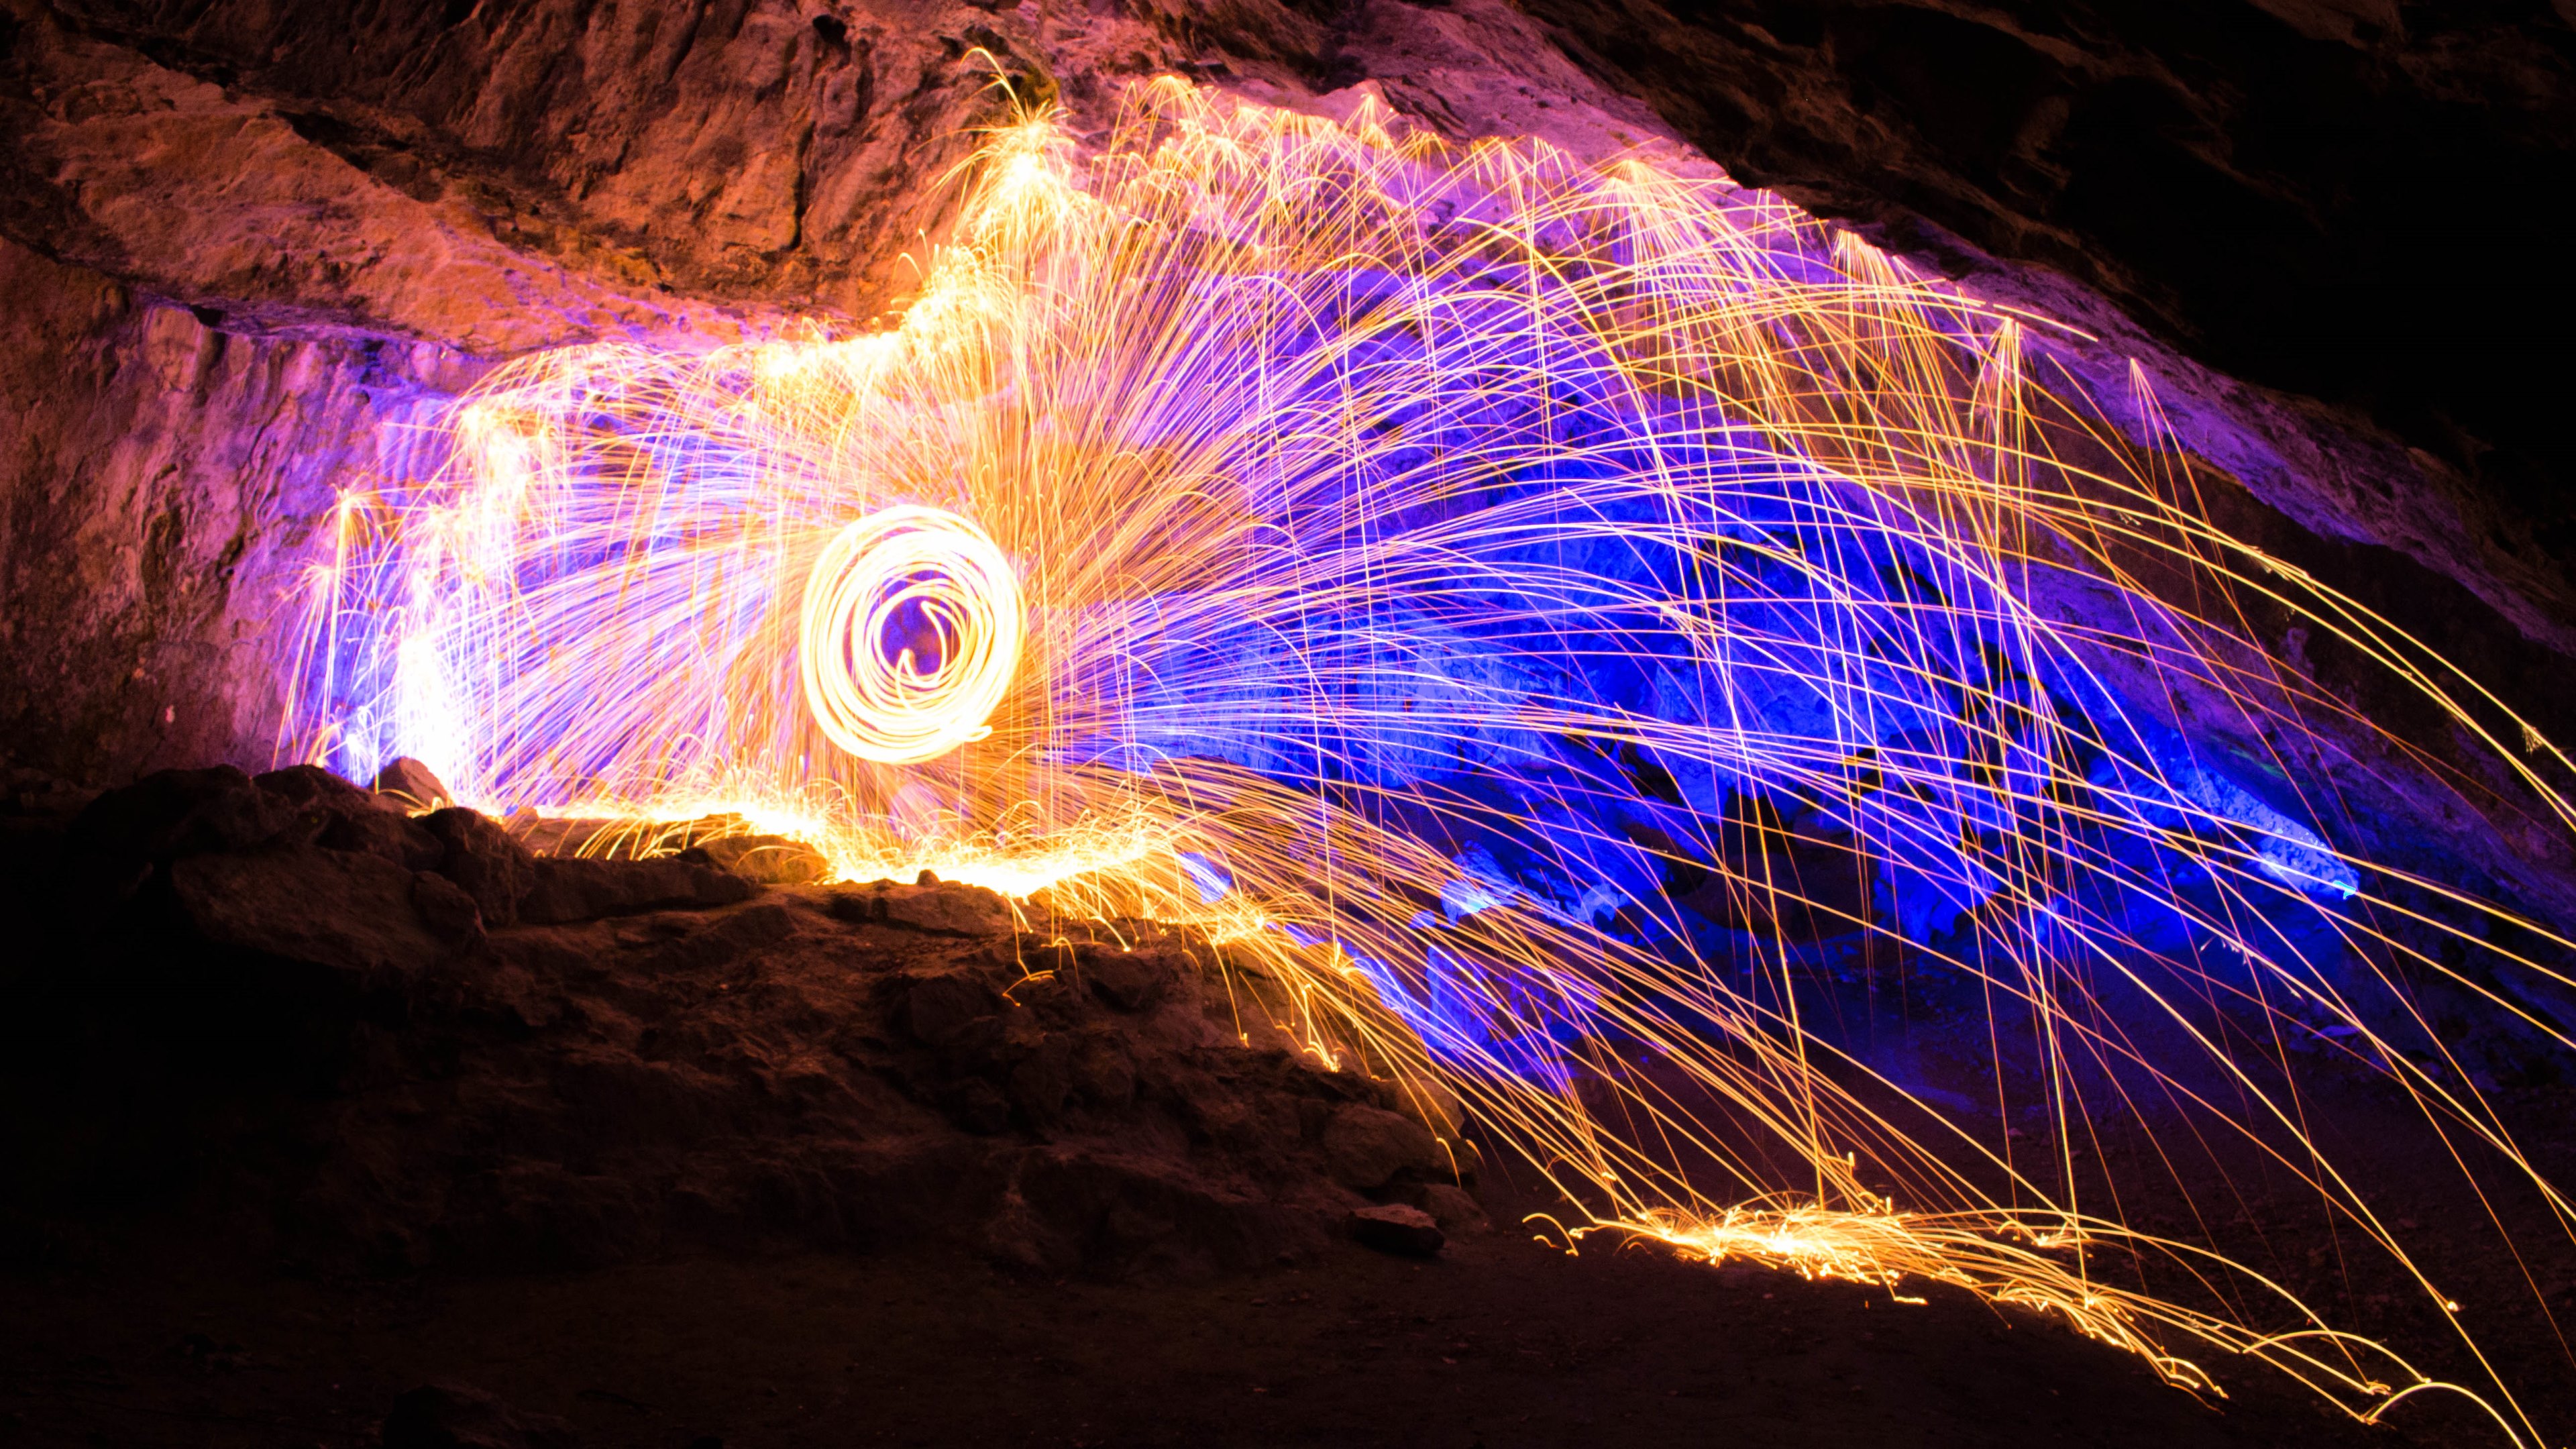
[[[585,1446],[2501,1444],[2226,1403],[1955,1294],[1708,1269],[1517,1227],[1430,1263],[1033,1281],[938,1253],[312,1281],[142,1256],[0,1287],[0,1441],[355,1446],[422,1382]],[[2228,1369],[2221,1366],[2226,1374]]]

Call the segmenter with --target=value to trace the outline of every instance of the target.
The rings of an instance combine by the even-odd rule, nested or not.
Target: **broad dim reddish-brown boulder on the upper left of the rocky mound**
[[[170,890],[198,936],[289,962],[410,977],[446,954],[412,905],[412,871],[376,856],[314,846],[185,856]]]

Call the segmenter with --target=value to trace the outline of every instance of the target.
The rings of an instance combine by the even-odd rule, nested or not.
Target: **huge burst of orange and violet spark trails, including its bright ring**
[[[2239,601],[2403,678],[2553,830],[2566,761],[2040,387],[2045,322],[1723,183],[1373,108],[1151,83],[1095,155],[1036,116],[974,175],[886,333],[497,371],[446,477],[343,508],[296,748],[1203,926],[1577,1235],[1947,1281],[2357,1415],[2447,1387],[2125,1227],[2071,1142],[2182,1119],[2439,1297],[2300,1127],[2282,1039],[2324,1039],[2566,1220],[2370,1003],[2568,944],[2334,846],[2269,743],[2370,724]],[[1971,982],[1994,1127],[2058,1147],[1837,1036],[1852,944]]]

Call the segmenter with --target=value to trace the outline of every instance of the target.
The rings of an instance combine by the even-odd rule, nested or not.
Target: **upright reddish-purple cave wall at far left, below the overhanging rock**
[[[337,487],[428,467],[471,358],[242,335],[0,242],[0,740],[75,779],[265,758]]]

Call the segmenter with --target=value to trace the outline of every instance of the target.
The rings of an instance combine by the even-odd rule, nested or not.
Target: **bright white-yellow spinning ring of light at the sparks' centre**
[[[1023,632],[1020,580],[984,529],[945,508],[871,513],[835,534],[806,578],[806,709],[863,761],[935,761],[992,735]]]

